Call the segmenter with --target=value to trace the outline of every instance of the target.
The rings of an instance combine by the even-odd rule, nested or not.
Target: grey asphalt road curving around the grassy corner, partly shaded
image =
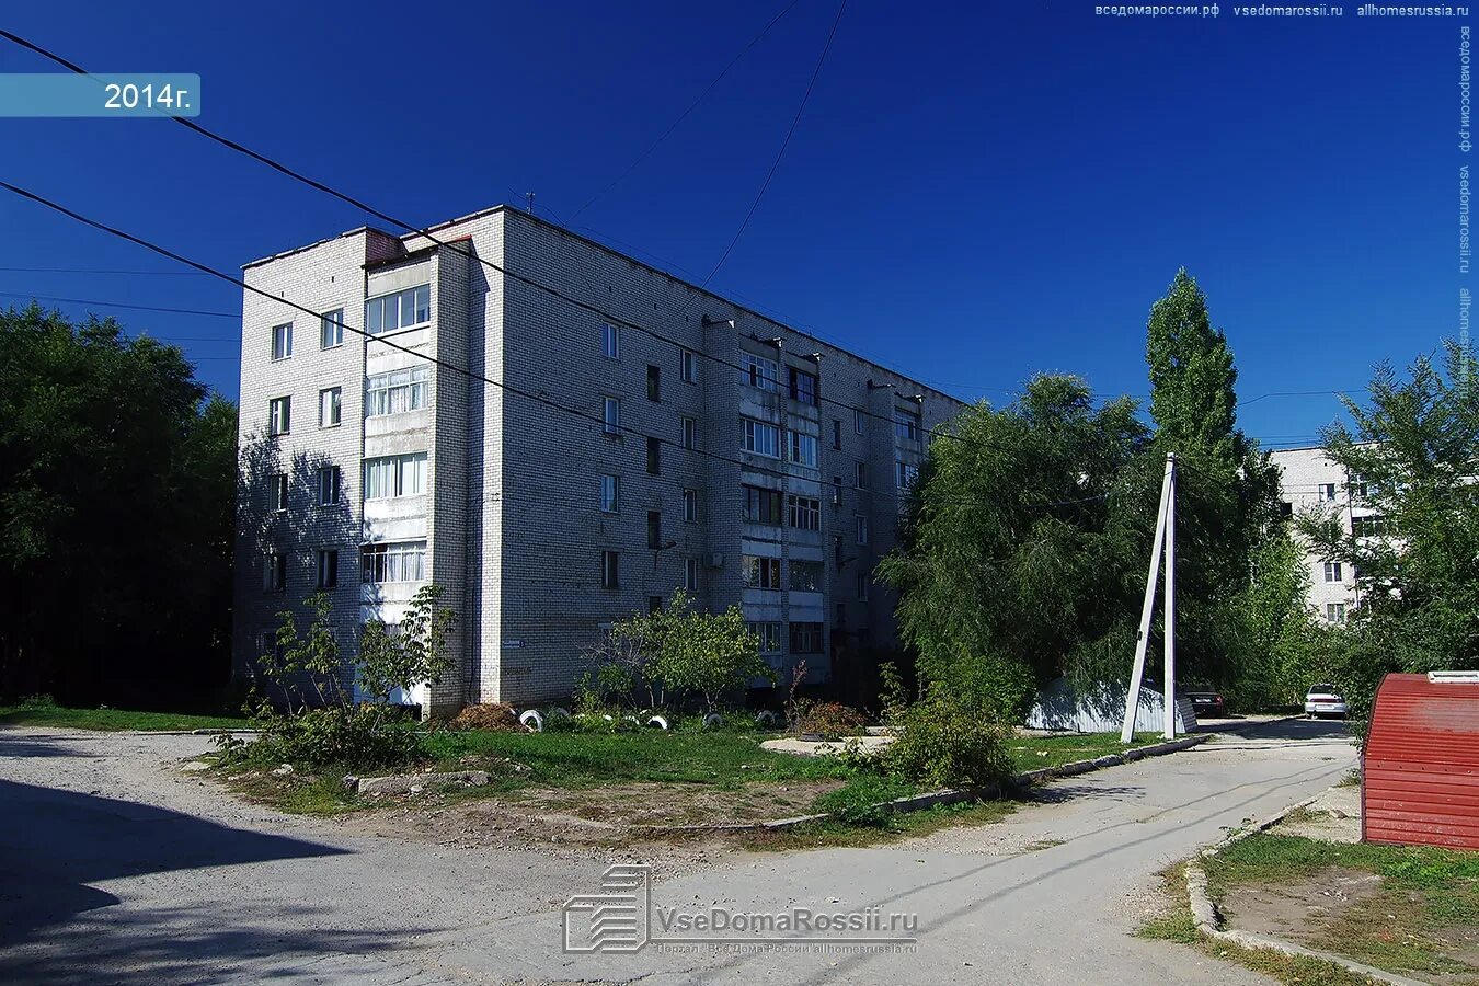
[[[1158,869],[1349,770],[1343,732],[1254,726],[887,847],[667,860],[651,909],[602,912],[645,948],[565,953],[561,903],[600,894],[611,860],[370,838],[244,806],[179,772],[198,738],[0,730],[0,982],[1259,983],[1130,933]],[[717,945],[680,928],[796,909],[870,924],[731,928]],[[574,942],[595,914],[572,917]],[[917,940],[849,940],[895,934]]]

